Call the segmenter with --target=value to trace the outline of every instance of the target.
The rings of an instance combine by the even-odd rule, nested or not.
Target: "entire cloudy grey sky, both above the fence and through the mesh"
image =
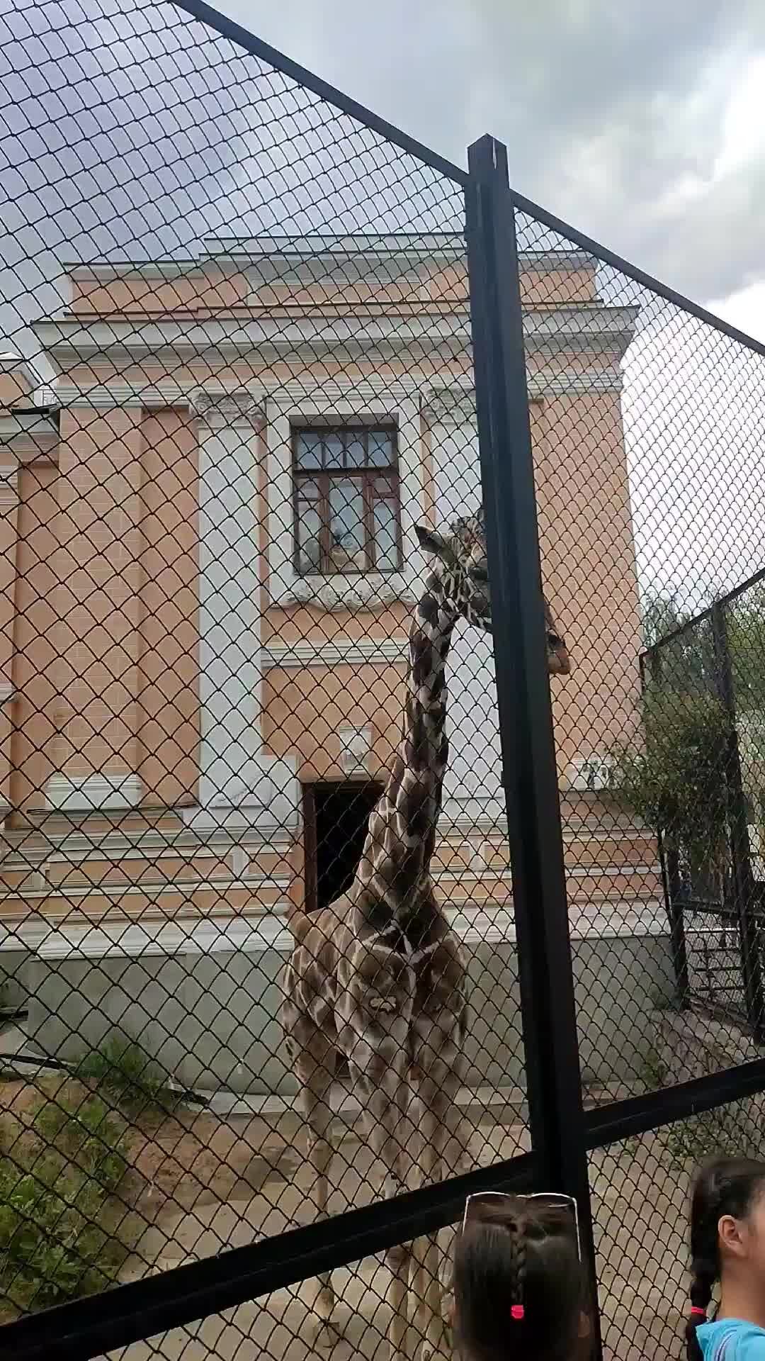
[[[460,165],[493,132],[521,193],[765,342],[762,0],[222,7]],[[29,323],[65,301],[63,261],[461,229],[456,185],[163,0],[0,0],[0,342],[29,357]],[[623,399],[638,557],[698,597],[765,559],[765,359],[630,280],[600,284],[640,308]]]

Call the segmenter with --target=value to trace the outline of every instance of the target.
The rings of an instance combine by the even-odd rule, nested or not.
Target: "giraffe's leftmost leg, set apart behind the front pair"
[[[302,1071],[301,1071],[302,1068]],[[298,1075],[302,1079],[302,1102],[308,1126],[308,1165],[312,1172],[312,1185],[309,1199],[313,1202],[316,1219],[327,1218],[327,1202],[329,1198],[329,1170],[332,1166],[332,1056],[325,1052],[324,1062],[298,1063]],[[323,1273],[319,1277],[319,1294],[314,1301],[316,1326],[314,1346],[321,1349],[333,1347],[339,1341],[339,1332],[332,1323],[335,1312],[335,1290],[332,1288],[332,1274]]]

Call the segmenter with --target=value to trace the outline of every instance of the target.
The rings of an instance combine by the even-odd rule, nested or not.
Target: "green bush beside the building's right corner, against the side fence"
[[[726,847],[726,759],[730,724],[708,694],[647,691],[641,744],[617,747],[611,784],[667,844],[717,866]]]

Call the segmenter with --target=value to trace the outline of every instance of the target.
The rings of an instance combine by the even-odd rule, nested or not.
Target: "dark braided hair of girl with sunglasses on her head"
[[[455,1249],[455,1334],[467,1361],[570,1361],[587,1308],[572,1214],[544,1200],[476,1200]],[[523,1305],[523,1319],[512,1305]]]

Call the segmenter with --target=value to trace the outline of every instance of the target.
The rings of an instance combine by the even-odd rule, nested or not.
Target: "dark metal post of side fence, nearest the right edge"
[[[754,916],[754,876],[749,856],[749,818],[740,774],[740,754],[736,734],[736,705],[726,608],[712,606],[712,638],[715,644],[715,679],[717,695],[730,720],[730,743],[726,761],[728,789],[728,817],[731,825],[732,889],[740,938],[740,965],[746,1015],[753,1036],[762,1041],[765,1014],[762,998],[762,970],[760,966],[760,930]]]

